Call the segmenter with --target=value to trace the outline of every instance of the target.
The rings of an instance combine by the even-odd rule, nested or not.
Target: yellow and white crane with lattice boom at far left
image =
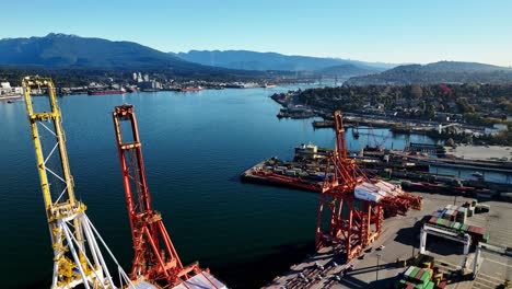
[[[51,288],[68,289],[78,285],[84,288],[116,288],[100,244],[117,265],[117,284],[120,287],[132,287],[128,276],[85,215],[85,205],[75,198],[61,114],[51,79],[26,77],[22,82],[54,250]],[[32,89],[46,90],[49,100],[48,112],[34,112]],[[37,104],[40,104],[39,101]],[[54,144],[46,147],[47,142]]]

